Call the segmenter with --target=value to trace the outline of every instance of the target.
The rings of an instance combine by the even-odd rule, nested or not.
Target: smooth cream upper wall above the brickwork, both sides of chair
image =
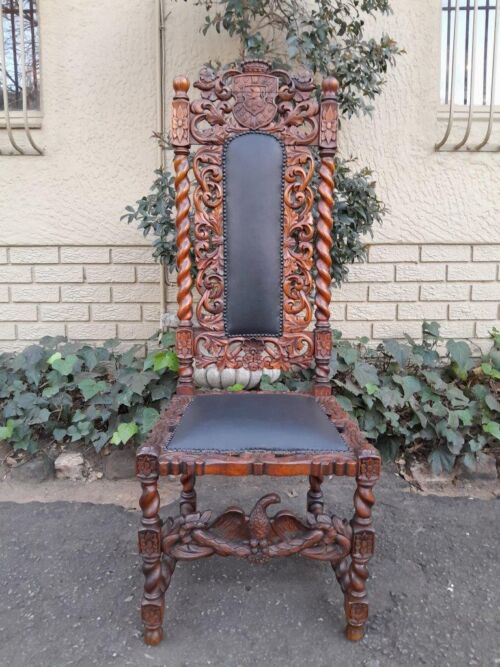
[[[167,3],[167,79],[194,80],[209,59],[237,55],[198,29],[203,11]],[[2,243],[141,243],[119,222],[157,163],[155,0],[40,0],[42,158],[0,158]],[[345,122],[341,153],[373,167],[390,208],[376,241],[500,241],[500,154],[435,153],[439,108],[437,0],[393,0],[378,22],[407,50],[373,119]],[[2,133],[3,134],[3,133]],[[498,133],[497,133],[498,134]],[[0,135],[5,145],[5,135]]]

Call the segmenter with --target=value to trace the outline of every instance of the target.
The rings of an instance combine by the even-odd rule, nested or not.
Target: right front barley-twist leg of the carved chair
[[[357,478],[354,493],[354,516],[351,565],[348,573],[339,573],[344,580],[346,637],[352,641],[363,639],[368,620],[366,580],[368,561],[373,555],[375,531],[372,526],[372,506],[375,503],[373,486],[376,480]]]

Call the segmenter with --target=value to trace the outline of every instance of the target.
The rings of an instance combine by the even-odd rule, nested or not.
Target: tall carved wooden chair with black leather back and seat
[[[145,641],[162,639],[164,596],[176,562],[214,554],[256,563],[301,554],[330,563],[344,594],[347,637],[358,640],[368,617],[380,457],[335,401],[328,380],[337,82],[325,79],[318,101],[309,73],[246,61],[223,73],[204,68],[194,85],[201,97],[190,103],[188,80],[176,78],[172,105],[177,394],[137,455]],[[193,225],[191,144],[199,146],[192,162]],[[321,161],[316,221],[313,145]],[[309,395],[196,393],[194,363],[283,371],[314,363],[314,388]],[[159,514],[160,475],[180,475],[182,484],[180,513],[166,521]],[[267,508],[280,502],[275,493],[249,514],[239,507],[219,517],[200,512],[198,475],[307,475],[306,518],[286,510],[270,517]],[[350,522],[324,509],[325,475],[356,479]]]

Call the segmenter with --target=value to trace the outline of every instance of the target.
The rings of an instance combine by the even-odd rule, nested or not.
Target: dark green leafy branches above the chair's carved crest
[[[402,53],[393,39],[367,39],[367,18],[388,14],[388,0],[198,0],[207,10],[203,32],[215,28],[240,40],[241,57],[277,67],[307,67],[334,75],[345,116],[370,113],[385,74]]]

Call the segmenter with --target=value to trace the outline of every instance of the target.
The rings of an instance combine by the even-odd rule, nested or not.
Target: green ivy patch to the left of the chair
[[[145,355],[118,340],[95,347],[45,337],[0,354],[0,440],[34,452],[39,441],[104,445],[140,442],[175,391],[173,336]]]

